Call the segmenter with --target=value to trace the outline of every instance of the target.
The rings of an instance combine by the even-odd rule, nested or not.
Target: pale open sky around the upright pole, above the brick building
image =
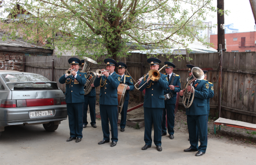
[[[217,8],[217,0],[212,1],[213,6]],[[254,29],[255,20],[252,14],[252,8],[249,0],[224,0],[224,10],[229,10],[228,16],[224,17],[224,24],[234,24],[234,29],[239,32],[256,31]],[[212,21],[217,24],[217,14],[215,17],[208,17],[206,22]],[[212,29],[217,34],[217,28]]]

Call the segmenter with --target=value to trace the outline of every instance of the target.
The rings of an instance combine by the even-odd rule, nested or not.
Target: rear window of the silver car
[[[38,82],[34,83],[20,83],[14,86],[14,90],[49,90],[58,89],[56,83],[42,83],[40,82],[50,82],[48,79],[42,75],[32,75],[32,74],[2,74],[2,77],[8,82]]]

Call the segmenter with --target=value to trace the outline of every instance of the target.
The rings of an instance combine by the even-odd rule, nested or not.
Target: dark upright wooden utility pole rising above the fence
[[[224,0],[217,0],[217,8],[218,10],[224,11]],[[222,51],[226,51],[224,14],[221,15],[220,12],[217,12],[217,20],[218,20],[218,46],[221,44]],[[219,47],[217,50],[218,52],[220,51]]]

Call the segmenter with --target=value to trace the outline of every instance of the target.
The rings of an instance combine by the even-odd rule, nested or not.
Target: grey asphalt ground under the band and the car
[[[88,115],[90,122],[90,115]],[[10,126],[0,137],[0,165],[255,165],[256,148],[230,143],[227,139],[208,139],[208,147],[203,156],[196,152],[184,152],[190,146],[188,134],[175,132],[174,139],[162,137],[163,151],[144,146],[144,128],[136,130],[118,128],[118,142],[98,145],[103,139],[101,121],[97,128],[90,124],[83,130],[79,143],[69,138],[68,120],[64,120],[55,132],[46,132],[42,125]],[[152,131],[153,137],[154,131]],[[110,134],[111,138],[111,134]]]

